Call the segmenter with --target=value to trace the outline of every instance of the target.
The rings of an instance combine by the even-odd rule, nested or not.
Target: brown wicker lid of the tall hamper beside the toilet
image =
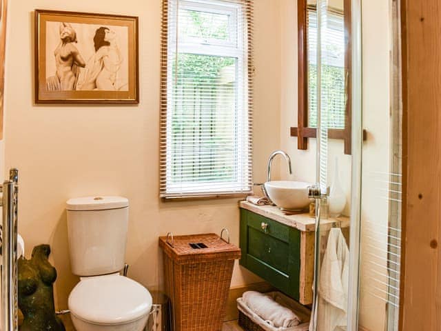
[[[159,245],[178,264],[240,259],[240,248],[214,233],[159,237]]]

